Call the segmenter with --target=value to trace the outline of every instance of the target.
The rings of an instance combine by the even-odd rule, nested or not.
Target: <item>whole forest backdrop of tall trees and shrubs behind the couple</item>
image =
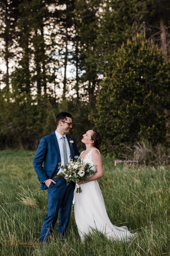
[[[167,162],[169,1],[0,3],[1,150],[35,150],[68,111],[79,148],[96,127],[103,153]]]

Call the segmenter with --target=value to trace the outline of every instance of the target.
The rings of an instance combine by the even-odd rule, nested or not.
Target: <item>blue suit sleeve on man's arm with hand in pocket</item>
[[[33,166],[38,176],[38,179],[40,181],[40,184],[48,179],[42,166],[46,153],[47,153],[47,143],[45,138],[41,138],[40,144],[38,145],[38,148],[33,160]]]

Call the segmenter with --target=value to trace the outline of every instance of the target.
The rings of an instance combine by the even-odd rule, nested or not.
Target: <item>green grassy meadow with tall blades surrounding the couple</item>
[[[72,206],[65,240],[53,236],[44,247],[38,238],[47,211],[47,190],[33,168],[34,151],[0,151],[1,255],[170,255],[169,169],[164,166],[125,168],[103,158],[104,176],[98,180],[108,216],[138,236],[129,243],[107,240],[100,232],[80,241]]]

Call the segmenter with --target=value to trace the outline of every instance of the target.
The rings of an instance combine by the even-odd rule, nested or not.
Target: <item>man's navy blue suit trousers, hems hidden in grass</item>
[[[65,237],[68,230],[75,183],[71,182],[67,185],[64,178],[53,178],[53,180],[56,184],[51,182],[48,187],[47,214],[43,222],[39,242],[46,242],[49,233],[53,232],[58,212],[58,237]]]

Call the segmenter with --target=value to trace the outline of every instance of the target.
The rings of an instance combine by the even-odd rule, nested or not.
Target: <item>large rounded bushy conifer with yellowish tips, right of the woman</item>
[[[168,143],[169,64],[142,35],[113,52],[97,98],[96,126],[106,152],[120,156],[141,137],[152,144]]]

